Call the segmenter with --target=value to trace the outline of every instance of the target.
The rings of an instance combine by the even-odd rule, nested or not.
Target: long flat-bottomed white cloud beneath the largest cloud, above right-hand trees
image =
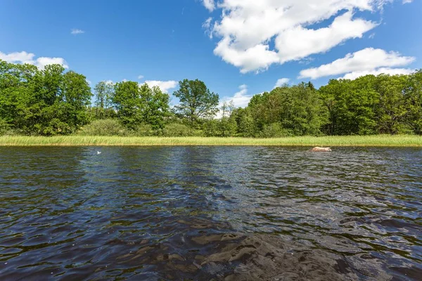
[[[350,77],[354,77],[359,73],[377,73],[381,67],[388,67],[383,68],[386,70],[391,67],[409,65],[414,60],[415,58],[413,57],[405,57],[393,51],[386,52],[380,48],[364,48],[355,53],[348,53],[345,58],[340,58],[332,63],[302,70],[300,78],[318,79],[345,73],[349,73]],[[391,71],[390,73],[392,73]]]

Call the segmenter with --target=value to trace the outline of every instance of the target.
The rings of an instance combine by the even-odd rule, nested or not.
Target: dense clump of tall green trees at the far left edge
[[[91,89],[86,78],[61,65],[14,65],[0,60],[0,118],[13,129],[53,136],[89,122]]]

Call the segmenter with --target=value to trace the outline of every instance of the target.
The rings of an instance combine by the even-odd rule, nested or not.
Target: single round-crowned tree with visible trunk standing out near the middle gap
[[[179,81],[180,89],[173,95],[180,100],[175,108],[179,115],[185,117],[193,126],[201,118],[214,116],[218,111],[219,96],[210,92],[203,81],[198,79]]]

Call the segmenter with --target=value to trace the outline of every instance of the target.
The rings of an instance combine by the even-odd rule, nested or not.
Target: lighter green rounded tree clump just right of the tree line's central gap
[[[328,122],[328,112],[312,84],[282,86],[254,96],[245,112],[238,112],[239,133],[251,136],[319,135]],[[255,121],[255,126],[250,124]],[[254,129],[254,127],[256,129]]]

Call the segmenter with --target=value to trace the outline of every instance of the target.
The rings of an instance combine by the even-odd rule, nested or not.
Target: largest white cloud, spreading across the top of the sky
[[[203,27],[220,38],[215,55],[243,73],[260,72],[274,63],[302,60],[348,39],[362,38],[377,23],[354,12],[375,12],[390,1],[222,0],[217,4],[222,10],[221,20],[214,25],[207,20]],[[215,8],[214,1],[206,2],[204,6]],[[312,28],[316,23],[324,27]]]

